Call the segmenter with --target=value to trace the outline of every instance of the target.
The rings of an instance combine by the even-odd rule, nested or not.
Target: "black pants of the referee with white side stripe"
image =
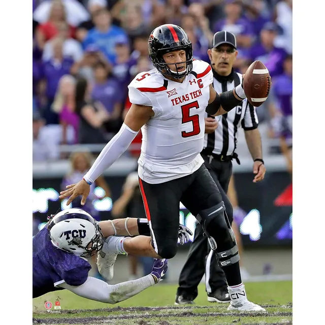
[[[212,159],[211,164],[209,164],[209,157],[204,154],[201,155],[205,166],[219,188],[226,213],[230,223],[232,223],[233,207],[226,196],[233,171],[232,161]],[[217,288],[227,286],[224,272],[217,263],[216,254],[211,251],[208,238],[203,236],[203,233],[201,224],[197,222],[194,239],[179,276],[178,296],[182,295],[195,299],[198,296],[198,285],[204,274],[206,274],[207,293],[213,293]]]

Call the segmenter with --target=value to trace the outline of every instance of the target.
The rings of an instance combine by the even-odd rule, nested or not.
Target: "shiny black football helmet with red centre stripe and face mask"
[[[152,64],[163,75],[167,75],[175,79],[180,79],[187,76],[192,71],[192,43],[189,41],[186,32],[181,27],[173,24],[165,24],[156,27],[151,32],[148,43],[149,57],[152,61]],[[177,64],[186,63],[185,71],[178,72],[176,64],[175,72],[172,71],[163,59],[164,54],[175,50],[185,50],[186,61],[177,62]]]

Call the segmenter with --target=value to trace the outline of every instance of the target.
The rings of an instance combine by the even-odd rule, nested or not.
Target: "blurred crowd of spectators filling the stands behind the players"
[[[33,0],[33,160],[64,158],[58,145],[105,144],[131,104],[127,85],[153,69],[148,37],[173,23],[194,58],[219,30],[237,37],[235,69],[261,60],[272,93],[258,109],[269,136],[291,137],[292,0]],[[135,143],[141,142],[141,135]]]

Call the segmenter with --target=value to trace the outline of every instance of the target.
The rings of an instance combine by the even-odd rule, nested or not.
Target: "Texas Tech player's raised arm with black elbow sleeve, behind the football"
[[[231,111],[246,98],[244,89],[241,85],[236,88],[221,92],[220,95],[210,85],[210,99],[206,112],[212,116],[218,116]]]

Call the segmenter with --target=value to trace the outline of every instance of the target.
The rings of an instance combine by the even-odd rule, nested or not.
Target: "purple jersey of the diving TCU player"
[[[32,239],[32,298],[61,290],[56,285],[63,282],[81,285],[91,269],[85,259],[56,248],[47,226]]]

